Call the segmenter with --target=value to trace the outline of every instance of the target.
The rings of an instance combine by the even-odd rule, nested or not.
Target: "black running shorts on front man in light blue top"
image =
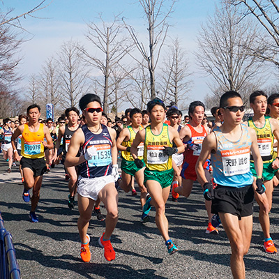
[[[214,189],[211,213],[231,213],[241,217],[250,216],[253,213],[254,190],[252,185],[234,188],[218,185]]]

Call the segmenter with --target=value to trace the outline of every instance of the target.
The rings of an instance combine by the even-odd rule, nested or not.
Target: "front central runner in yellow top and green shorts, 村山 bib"
[[[165,240],[169,255],[177,251],[176,246],[169,239],[168,221],[165,216],[165,203],[169,197],[174,170],[172,169],[172,155],[182,153],[184,146],[179,139],[179,133],[165,123],[165,105],[162,100],[155,98],[147,104],[147,111],[151,125],[140,130],[135,136],[131,153],[137,167],[143,167],[142,160],[137,158],[137,146],[144,142],[144,185],[151,197],[146,197],[146,204],[142,213],[144,219],[151,209],[156,208],[156,225]],[[177,147],[172,147],[172,143]]]

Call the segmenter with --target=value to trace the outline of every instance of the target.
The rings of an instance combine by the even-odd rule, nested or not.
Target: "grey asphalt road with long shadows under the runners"
[[[105,222],[92,216],[89,225],[91,262],[80,259],[77,232],[77,207],[66,205],[67,183],[61,166],[45,174],[38,204],[39,223],[28,218],[30,204],[22,200],[23,186],[17,167],[6,173],[7,163],[0,158],[0,211],[4,225],[13,235],[22,279],[48,278],[232,278],[229,269],[230,247],[224,229],[218,236],[205,234],[206,211],[202,191],[195,184],[188,199],[167,201],[169,235],[179,252],[167,255],[167,248],[154,223],[140,223],[140,197],[119,191],[119,222],[112,236],[116,259],[107,262],[98,238]],[[105,213],[105,209],[101,208]],[[252,242],[245,257],[246,278],[279,278],[279,257],[263,249],[263,234],[255,206]],[[279,189],[273,197],[271,236],[279,245]]]

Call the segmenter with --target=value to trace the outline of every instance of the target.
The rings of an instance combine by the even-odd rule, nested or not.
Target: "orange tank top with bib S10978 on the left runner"
[[[29,159],[45,157],[43,140],[44,140],[44,124],[40,123],[37,132],[30,132],[28,123],[24,124],[22,133],[22,156]]]

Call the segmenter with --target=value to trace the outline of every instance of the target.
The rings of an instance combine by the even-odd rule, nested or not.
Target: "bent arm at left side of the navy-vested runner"
[[[80,150],[80,146],[84,143],[84,140],[84,133],[81,128],[78,128],[70,139],[64,163],[65,167],[73,167],[85,162],[84,156],[77,157],[77,153]]]

